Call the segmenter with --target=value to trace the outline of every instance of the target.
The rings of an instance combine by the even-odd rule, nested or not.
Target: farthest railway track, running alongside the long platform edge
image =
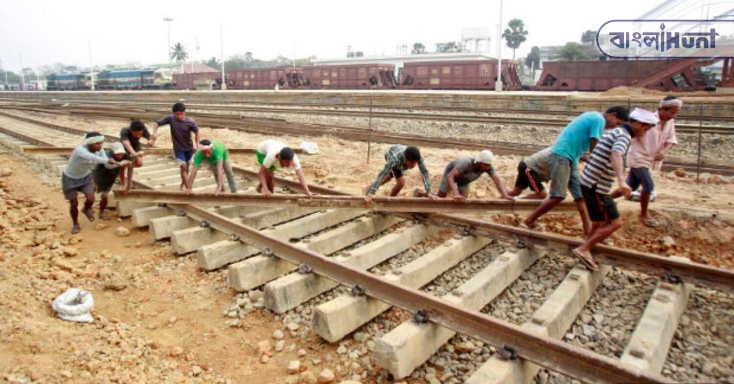
[[[76,105],[76,103],[74,104]],[[110,104],[109,102],[104,103],[90,103],[84,102],[79,107],[95,106],[95,105],[124,105],[124,104]],[[426,112],[384,112],[384,111],[368,111],[365,109],[334,109],[324,107],[272,107],[272,106],[222,106],[216,104],[188,104],[189,109],[196,110],[197,112],[205,111],[226,111],[235,114],[242,113],[266,113],[266,114],[294,114],[294,115],[319,115],[319,116],[344,116],[344,117],[373,117],[382,119],[395,119],[395,120],[423,120],[423,121],[446,121],[452,123],[484,123],[484,124],[508,124],[508,125],[523,125],[523,126],[543,126],[553,128],[563,128],[570,122],[571,118],[557,118],[561,117],[575,117],[579,112],[566,112],[566,111],[529,111],[523,109],[465,109],[462,112],[471,114],[482,114],[482,115],[451,115],[446,113],[426,113]],[[163,103],[145,103],[135,104],[137,111],[139,112],[167,112],[167,104]],[[377,109],[377,108],[376,108]],[[383,109],[380,107],[379,109]],[[114,112],[114,111],[111,111]],[[547,113],[551,112],[551,113]],[[206,112],[205,112],[206,113]],[[496,114],[499,116],[488,116],[488,114]],[[507,117],[501,115],[551,115],[556,118],[548,117]],[[734,118],[731,117],[704,117],[699,119],[698,117],[691,117],[681,115],[678,120],[691,119],[694,121],[727,121],[731,122]],[[701,131],[702,134],[719,134],[719,135],[731,135],[734,134],[734,126],[702,126],[699,127],[697,124],[676,124],[676,131],[681,134],[697,134]]]

